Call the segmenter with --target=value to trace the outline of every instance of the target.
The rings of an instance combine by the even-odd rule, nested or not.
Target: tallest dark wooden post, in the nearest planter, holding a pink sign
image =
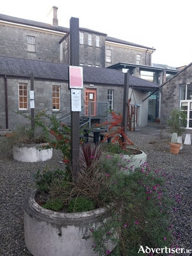
[[[70,65],[79,66],[79,19],[70,19]],[[72,101],[72,99],[70,99]],[[79,170],[79,112],[71,111],[71,154],[74,177]]]

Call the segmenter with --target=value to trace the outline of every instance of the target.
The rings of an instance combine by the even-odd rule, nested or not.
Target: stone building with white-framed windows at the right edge
[[[161,122],[166,125],[170,112],[174,108],[187,111],[188,126],[192,129],[192,63],[184,67],[172,79],[159,88],[161,100]]]

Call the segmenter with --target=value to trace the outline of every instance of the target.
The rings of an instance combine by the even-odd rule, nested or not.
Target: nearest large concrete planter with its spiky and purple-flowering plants
[[[63,130],[54,132],[56,143],[49,146],[62,152],[63,168],[36,172],[36,189],[24,202],[29,252],[34,256],[120,256],[134,255],[141,244],[170,245],[173,201],[160,173],[143,163],[127,175],[120,155],[106,156],[104,147],[86,143],[79,172],[74,174]]]

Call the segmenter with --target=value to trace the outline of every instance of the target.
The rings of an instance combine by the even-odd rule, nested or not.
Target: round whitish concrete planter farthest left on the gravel
[[[13,146],[13,159],[19,162],[40,162],[51,159],[52,148],[40,149],[42,144],[24,144],[22,146]]]

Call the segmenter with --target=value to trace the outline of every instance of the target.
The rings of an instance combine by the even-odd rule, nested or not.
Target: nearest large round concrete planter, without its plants
[[[98,227],[109,212],[104,208],[87,212],[54,212],[35,202],[33,191],[24,202],[24,236],[33,256],[95,256],[93,239],[82,239],[88,227]],[[108,244],[109,250],[114,248]]]

